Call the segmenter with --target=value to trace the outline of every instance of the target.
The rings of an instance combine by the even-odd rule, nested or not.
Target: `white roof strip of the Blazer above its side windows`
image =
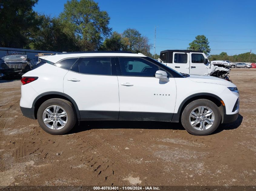
[[[43,59],[56,63],[66,58],[79,58],[79,57],[92,57],[92,56],[146,57],[145,55],[135,54],[128,51],[87,51],[87,52],[56,53],[54,55],[46,56]]]

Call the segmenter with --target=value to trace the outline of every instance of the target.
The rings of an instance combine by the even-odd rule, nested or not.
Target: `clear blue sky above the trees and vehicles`
[[[34,10],[58,16],[66,0],[39,0]],[[256,0],[95,0],[107,11],[109,27],[122,33],[135,28],[154,44],[156,53],[166,49],[186,49],[195,36],[204,34],[210,54],[256,53]],[[151,53],[154,53],[152,46]]]

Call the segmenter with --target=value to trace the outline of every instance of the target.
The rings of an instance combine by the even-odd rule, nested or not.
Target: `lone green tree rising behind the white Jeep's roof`
[[[189,43],[188,50],[201,50],[206,55],[208,55],[211,51],[208,38],[206,38],[204,35],[198,35],[195,37],[195,40],[193,40],[191,43]]]

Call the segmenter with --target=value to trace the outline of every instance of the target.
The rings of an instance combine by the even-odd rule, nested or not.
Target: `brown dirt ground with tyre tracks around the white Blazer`
[[[256,185],[256,69],[231,70],[240,115],[208,136],[176,123],[86,122],[49,135],[0,81],[0,185]]]

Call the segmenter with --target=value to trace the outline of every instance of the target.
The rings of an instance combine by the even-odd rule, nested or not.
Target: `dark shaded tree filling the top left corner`
[[[37,30],[38,20],[32,7],[38,0],[0,1],[0,46],[23,48],[31,32]]]

